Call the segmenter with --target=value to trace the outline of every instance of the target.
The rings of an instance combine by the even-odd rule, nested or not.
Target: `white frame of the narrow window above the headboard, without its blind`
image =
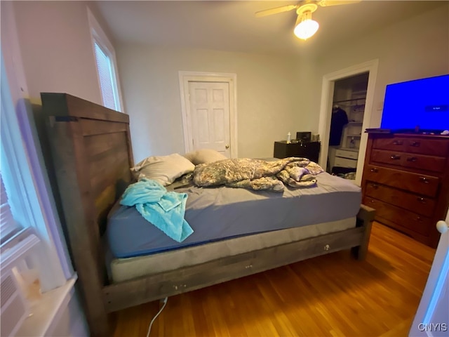
[[[105,105],[105,102],[103,100],[100,75],[98,74],[97,58],[95,56],[95,44],[98,44],[98,46],[100,46],[103,53],[105,53],[109,58],[109,60],[111,60],[112,62],[112,82],[113,82],[112,85],[115,91],[114,100],[116,100],[116,105],[118,105],[116,110],[119,112],[123,112],[123,105],[122,105],[123,100],[121,98],[121,88],[120,88],[119,74],[117,72],[118,67],[114,46],[112,46],[111,41],[109,41],[107,35],[103,31],[102,27],[98,23],[97,19],[95,19],[95,16],[93,15],[93,13],[89,8],[87,8],[87,15],[88,15],[89,28],[91,29],[92,53],[93,58],[95,60],[95,67],[97,69],[98,87],[100,88],[100,94],[102,97],[103,105]]]

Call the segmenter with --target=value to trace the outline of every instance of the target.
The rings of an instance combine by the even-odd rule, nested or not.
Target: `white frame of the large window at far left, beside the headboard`
[[[15,220],[25,227],[33,227],[40,239],[41,290],[45,292],[65,284],[74,271],[53,194],[49,191],[45,166],[39,165],[42,162],[40,145],[33,147],[36,138],[32,133],[22,136],[20,130],[18,118],[25,117],[30,107],[25,100],[29,93],[11,2],[1,4],[1,20],[1,171],[4,178],[8,177],[8,183],[4,179],[6,190],[17,191],[17,194],[8,194]]]

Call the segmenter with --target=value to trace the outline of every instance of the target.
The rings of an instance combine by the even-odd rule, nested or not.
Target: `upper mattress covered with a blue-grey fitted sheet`
[[[283,193],[230,187],[186,187],[185,219],[194,232],[176,242],[140,216],[118,206],[109,215],[107,241],[114,258],[130,258],[273,230],[355,217],[361,189],[349,180],[320,173],[316,187],[286,187]]]

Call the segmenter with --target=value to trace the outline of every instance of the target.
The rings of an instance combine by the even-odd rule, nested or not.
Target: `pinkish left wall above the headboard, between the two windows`
[[[62,92],[102,104],[85,1],[14,1],[29,97]]]

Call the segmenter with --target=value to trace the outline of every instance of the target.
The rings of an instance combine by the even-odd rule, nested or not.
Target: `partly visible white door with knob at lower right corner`
[[[409,336],[449,336],[449,212]]]

